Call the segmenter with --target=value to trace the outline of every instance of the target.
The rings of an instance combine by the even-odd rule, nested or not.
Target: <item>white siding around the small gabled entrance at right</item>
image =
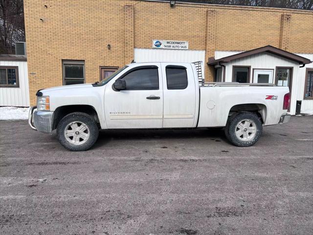
[[[215,58],[223,58],[225,56],[241,53],[242,51],[215,51]],[[298,54],[313,61],[313,54]],[[303,100],[304,93],[304,81],[306,68],[313,68],[313,64],[306,65],[304,68],[300,68],[300,65],[294,61],[282,58],[280,56],[263,52],[252,56],[247,56],[242,59],[237,59],[226,63],[225,81],[232,81],[232,67],[239,66],[251,66],[250,82],[252,82],[253,69],[274,69],[274,79],[276,74],[276,67],[292,67],[292,93],[291,93],[291,114],[295,114],[296,101]],[[313,100],[303,100],[301,105],[301,111],[313,110]]]

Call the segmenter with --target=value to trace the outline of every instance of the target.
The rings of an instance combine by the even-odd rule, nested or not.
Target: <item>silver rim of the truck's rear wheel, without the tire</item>
[[[256,124],[250,119],[238,122],[236,126],[236,137],[241,141],[251,141],[256,134]]]

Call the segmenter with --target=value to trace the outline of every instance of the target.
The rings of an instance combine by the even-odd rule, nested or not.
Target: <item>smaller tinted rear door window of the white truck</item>
[[[187,71],[184,67],[166,67],[167,90],[183,90],[188,86]]]

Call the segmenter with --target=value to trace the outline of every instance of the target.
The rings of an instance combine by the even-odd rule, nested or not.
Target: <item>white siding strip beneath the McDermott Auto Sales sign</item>
[[[205,60],[204,50],[134,49],[135,62],[185,62]]]

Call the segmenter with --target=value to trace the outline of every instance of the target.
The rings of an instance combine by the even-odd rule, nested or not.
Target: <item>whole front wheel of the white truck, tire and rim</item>
[[[60,143],[70,151],[85,151],[98,139],[99,129],[93,118],[85,113],[71,113],[57,126]]]

